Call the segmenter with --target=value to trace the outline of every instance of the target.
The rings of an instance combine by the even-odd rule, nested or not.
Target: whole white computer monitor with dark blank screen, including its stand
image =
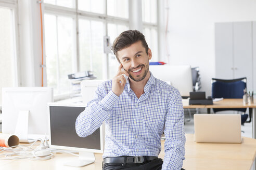
[[[84,109],[84,104],[48,105],[50,148],[79,151],[79,158],[63,158],[65,165],[81,167],[91,164],[95,161],[94,153],[104,151],[104,125],[87,137],[79,137],[76,134],[75,121]]]

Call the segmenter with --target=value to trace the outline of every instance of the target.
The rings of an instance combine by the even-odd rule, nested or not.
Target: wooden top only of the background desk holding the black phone
[[[188,105],[183,100],[184,108],[256,108],[256,103],[244,105],[242,98],[224,98],[221,101],[213,102],[213,105]]]

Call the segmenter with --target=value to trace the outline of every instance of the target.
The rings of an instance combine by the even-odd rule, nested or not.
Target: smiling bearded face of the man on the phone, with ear
[[[134,81],[143,80],[149,70],[149,60],[152,57],[151,50],[146,53],[142,42],[132,44],[117,52],[120,63],[123,68],[129,73],[129,77]]]

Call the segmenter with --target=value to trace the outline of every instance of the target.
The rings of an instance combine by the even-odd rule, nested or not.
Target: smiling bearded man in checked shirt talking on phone
[[[139,31],[121,33],[112,50],[120,63],[118,73],[100,84],[76,119],[76,133],[86,137],[105,121],[104,170],[182,169],[186,139],[180,93],[149,72],[152,54]]]

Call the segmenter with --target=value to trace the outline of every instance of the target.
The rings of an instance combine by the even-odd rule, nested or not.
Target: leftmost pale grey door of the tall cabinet
[[[233,79],[233,23],[215,23],[215,78]]]

